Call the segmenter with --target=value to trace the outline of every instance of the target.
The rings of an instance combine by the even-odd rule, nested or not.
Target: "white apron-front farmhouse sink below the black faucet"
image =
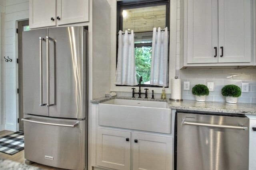
[[[102,126],[171,133],[171,109],[167,102],[113,99],[99,104]]]

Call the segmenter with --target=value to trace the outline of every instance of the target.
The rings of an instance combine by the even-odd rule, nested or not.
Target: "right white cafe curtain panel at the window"
[[[168,86],[168,28],[153,29],[150,85]]]

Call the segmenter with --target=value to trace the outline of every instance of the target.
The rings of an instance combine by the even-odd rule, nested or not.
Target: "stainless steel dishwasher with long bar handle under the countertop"
[[[248,170],[249,118],[177,111],[175,170]]]

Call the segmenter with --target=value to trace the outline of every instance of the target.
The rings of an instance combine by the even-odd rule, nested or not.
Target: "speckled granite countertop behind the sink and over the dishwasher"
[[[196,102],[196,100],[183,100],[182,102],[174,102],[170,100],[156,99],[144,99],[144,98],[131,98],[128,96],[116,96],[112,98],[99,98],[91,100],[91,103],[102,103],[111,99],[128,99],[128,100],[148,100],[157,102],[168,102],[170,109],[179,110],[192,110],[192,111],[210,111],[219,113],[242,113],[249,115],[256,115],[256,104],[251,103],[237,103],[228,104],[226,102]]]

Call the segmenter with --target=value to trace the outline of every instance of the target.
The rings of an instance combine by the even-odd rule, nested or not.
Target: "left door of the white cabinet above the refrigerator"
[[[56,25],[56,0],[29,0],[29,27]],[[51,20],[53,18],[53,20]]]

